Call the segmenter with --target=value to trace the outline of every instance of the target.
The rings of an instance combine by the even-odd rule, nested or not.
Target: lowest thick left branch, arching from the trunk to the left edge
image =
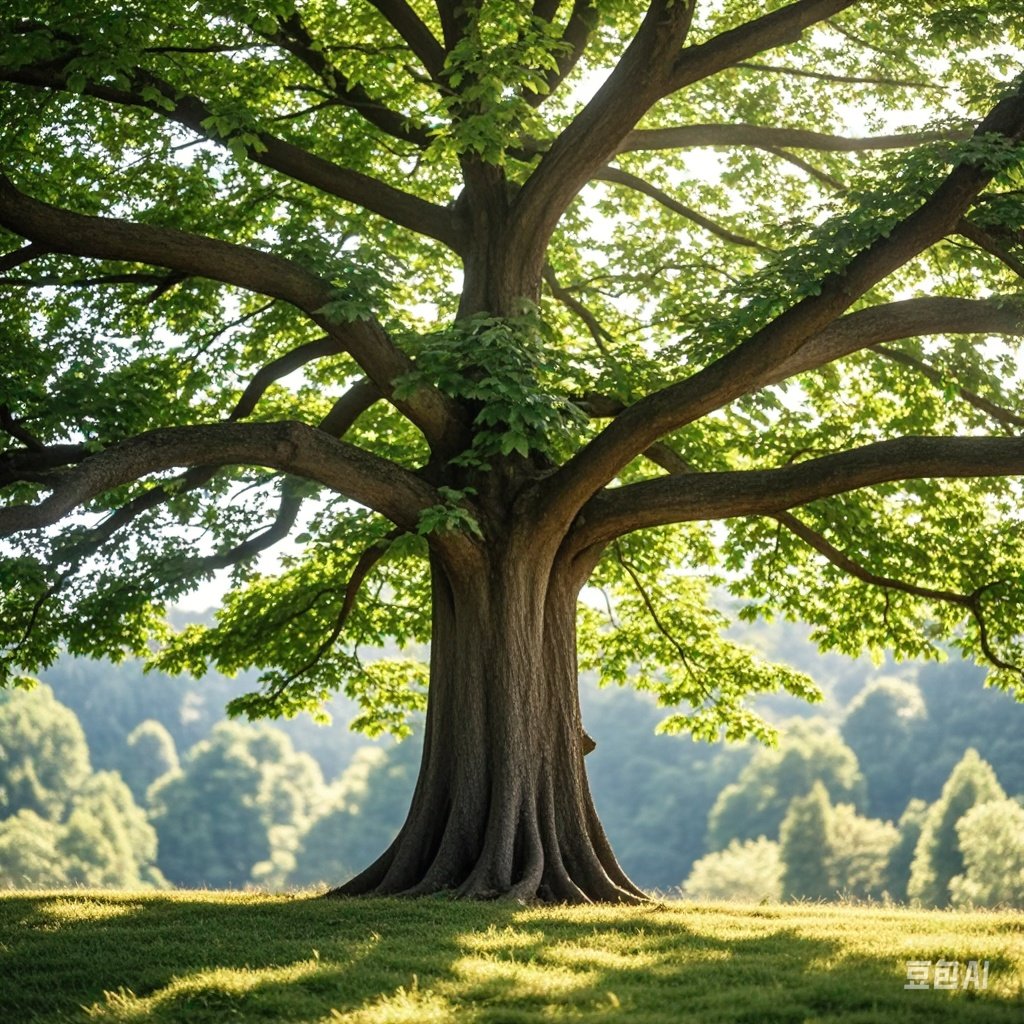
[[[35,505],[0,509],[0,537],[52,525],[97,496],[182,466],[256,465],[314,480],[404,529],[440,502],[414,473],[297,422],[224,423],[152,430],[82,461]]]

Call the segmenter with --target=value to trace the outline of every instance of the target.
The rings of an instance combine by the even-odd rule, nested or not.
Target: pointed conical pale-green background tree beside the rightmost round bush
[[[972,807],[1006,799],[991,766],[975,750],[968,751],[928,809],[910,865],[907,895],[926,905],[949,902],[949,884],[964,873],[964,853],[956,824]]]

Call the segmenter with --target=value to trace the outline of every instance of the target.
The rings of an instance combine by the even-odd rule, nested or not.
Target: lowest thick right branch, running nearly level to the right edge
[[[1024,437],[900,437],[781,469],[687,473],[609,487],[582,509],[583,550],[648,526],[773,515],[820,498],[923,477],[1024,474]]]

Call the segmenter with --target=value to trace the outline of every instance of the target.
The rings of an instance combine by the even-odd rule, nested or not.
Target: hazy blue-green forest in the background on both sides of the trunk
[[[799,628],[742,637],[811,674],[766,698],[777,748],[655,734],[650,694],[583,687],[597,808],[638,884],[696,898],[1024,906],[1024,706],[968,663],[822,656]],[[306,717],[250,724],[240,682],[65,658],[0,693],[0,885],[338,884],[395,834],[419,738]]]

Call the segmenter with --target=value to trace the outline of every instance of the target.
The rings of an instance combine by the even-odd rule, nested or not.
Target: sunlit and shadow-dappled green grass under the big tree
[[[906,990],[907,961],[988,961]],[[1024,914],[855,906],[518,907],[76,891],[0,896],[0,1021],[999,1024]]]

